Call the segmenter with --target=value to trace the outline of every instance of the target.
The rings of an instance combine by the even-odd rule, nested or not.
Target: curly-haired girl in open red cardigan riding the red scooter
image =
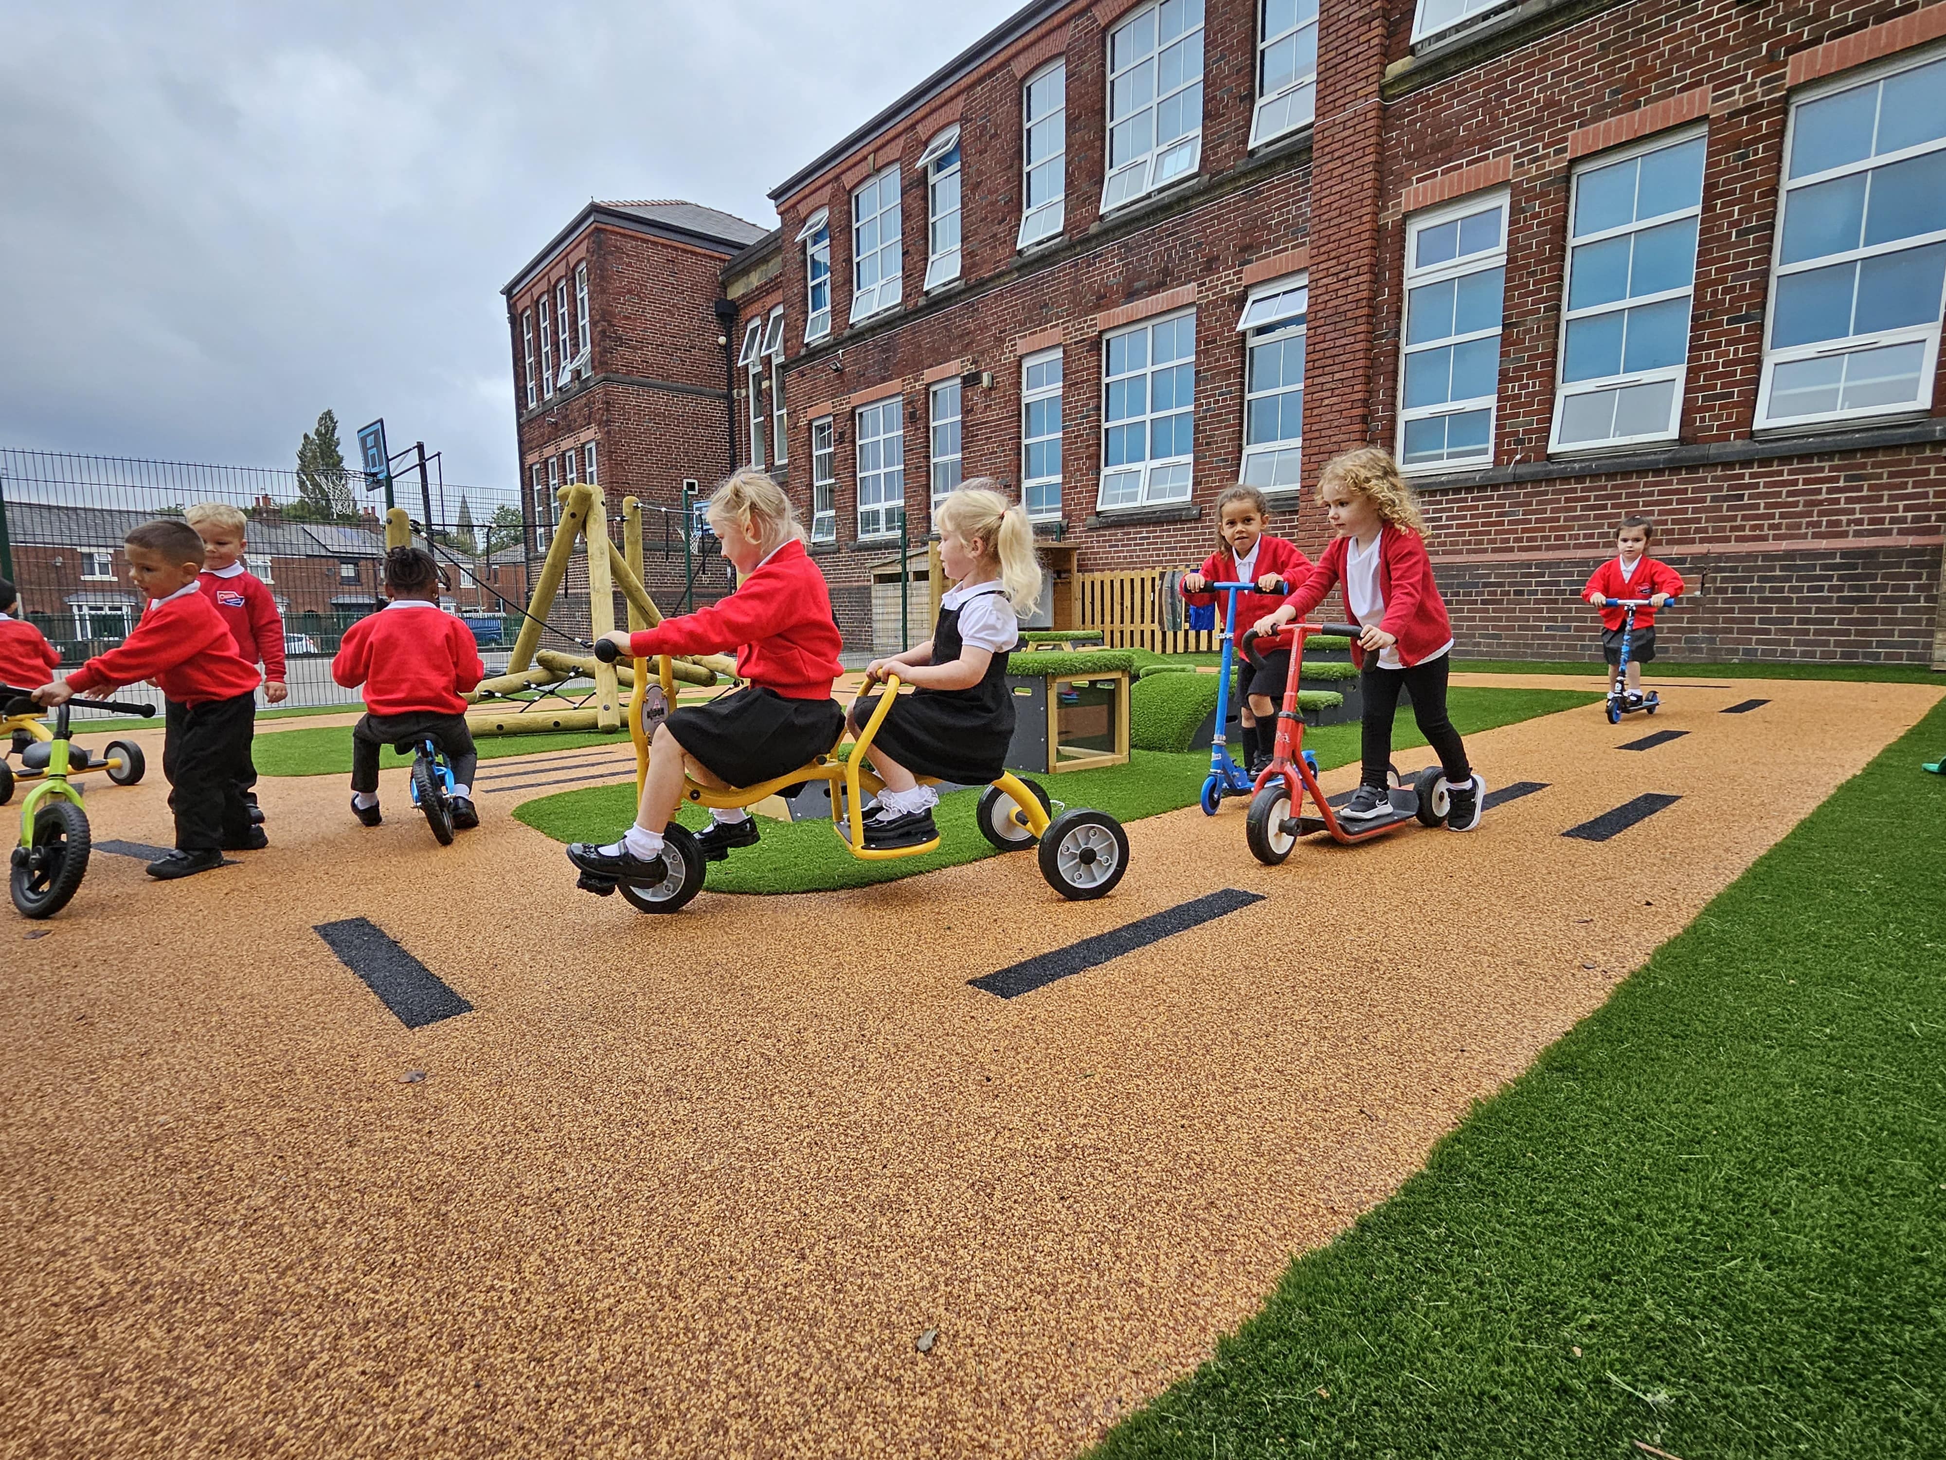
[[[1389,452],[1364,446],[1325,463],[1317,477],[1317,500],[1337,537],[1312,576],[1257,629],[1275,633],[1317,607],[1335,584],[1345,584],[1345,609],[1358,625],[1351,652],[1362,670],[1364,773],[1339,816],[1374,821],[1391,814],[1386,796],[1391,718],[1399,711],[1399,691],[1409,689],[1419,734],[1438,753],[1446,773],[1446,827],[1471,831],[1479,825],[1485,786],[1467,765],[1460,732],[1446,716],[1454,631],[1432,582],[1426,522],[1419,516],[1413,489]]]

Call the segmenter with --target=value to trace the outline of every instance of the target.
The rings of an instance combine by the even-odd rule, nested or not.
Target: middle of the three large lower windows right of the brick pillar
[[[1676,438],[1707,144],[1689,132],[1576,167],[1551,450]]]

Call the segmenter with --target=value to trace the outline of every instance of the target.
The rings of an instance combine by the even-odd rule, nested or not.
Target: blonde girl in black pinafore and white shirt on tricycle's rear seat
[[[885,788],[864,823],[864,845],[919,847],[938,837],[932,808],[940,792],[919,777],[983,786],[1006,769],[1014,744],[1014,695],[1006,662],[1020,642],[1020,619],[1041,596],[1033,528],[1022,506],[1008,506],[994,483],[977,477],[932,512],[940,529],[940,566],[952,580],[940,596],[932,639],[903,654],[872,660],[866,683],[897,674],[913,685],[885,711],[866,751]],[[852,730],[878,709],[878,695],[852,703]]]

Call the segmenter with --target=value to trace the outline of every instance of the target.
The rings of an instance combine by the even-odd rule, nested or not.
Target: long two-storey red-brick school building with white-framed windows
[[[576,304],[557,374],[714,350],[679,475],[776,471],[856,646],[963,477],[1142,572],[1236,481],[1317,549],[1304,485],[1376,442],[1465,652],[1580,654],[1640,510],[1687,656],[1946,666],[1946,4],[1043,0],[771,199],[689,292]],[[516,380],[566,366],[562,284],[516,294]]]

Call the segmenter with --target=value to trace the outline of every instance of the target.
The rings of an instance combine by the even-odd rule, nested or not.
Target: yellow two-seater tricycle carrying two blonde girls
[[[603,662],[621,658],[609,640],[595,642],[595,654]],[[675,675],[667,656],[656,656],[656,672],[650,674],[648,660],[634,662],[634,691],[629,697],[629,736],[634,740],[634,779],[640,792],[648,777],[648,742],[656,726],[675,705]],[[747,808],[761,800],[778,796],[796,786],[823,781],[831,790],[831,829],[845,843],[845,851],[860,860],[889,860],[893,857],[924,857],[938,851],[940,839],[922,841],[915,847],[866,847],[864,845],[864,804],[883,790],[883,781],[872,771],[866,749],[878,734],[891,701],[899,693],[899,679],[885,679],[883,693],[872,718],[858,730],[850,753],[841,753],[848,728],[839,734],[839,742],[810,765],[798,767],[790,775],[765,781],[757,786],[734,786],[716,790],[683,779],[683,800],[691,806],[708,808]],[[938,785],[920,777],[926,785]],[[1129,870],[1129,835],[1107,812],[1082,806],[1055,812],[1047,792],[1024,781],[1012,771],[1000,775],[987,786],[979,800],[977,821],[981,833],[998,851],[1024,851],[1037,847],[1041,876],[1047,886],[1072,901],[1105,897]],[[656,884],[605,884],[605,878],[582,874],[582,888],[588,892],[621,892],[621,895],[644,913],[673,913],[699,892],[703,892],[703,872],[706,862],[697,847],[695,835],[669,821],[664,837],[664,878]]]

